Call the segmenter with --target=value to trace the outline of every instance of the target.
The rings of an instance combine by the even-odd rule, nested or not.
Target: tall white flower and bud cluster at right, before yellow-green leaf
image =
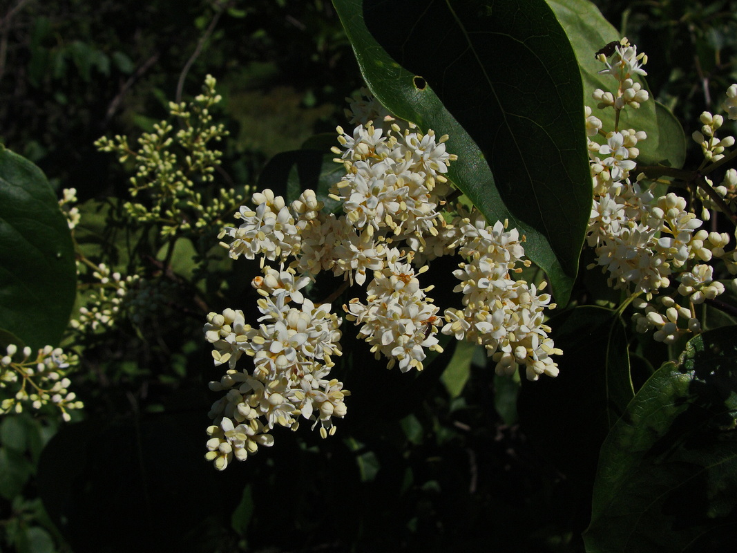
[[[624,38],[615,48],[612,63],[604,55],[599,59],[607,64],[601,73],[618,80],[618,92],[595,91],[598,108],[638,108],[648,100],[647,92],[632,82],[632,74],[646,74],[642,66],[647,58],[638,55],[636,46]],[[594,198],[587,243],[596,254],[590,267],[599,265],[608,272],[613,288],[643,294],[645,299],[633,302],[644,311],[634,316],[638,331],[654,329],[654,338],[667,343],[685,333],[699,332],[694,305],[724,292],[724,285],[713,281],[713,269],[706,263],[724,256],[729,235],[700,229],[702,219],[688,209],[684,198],[673,192],[656,197],[654,183],[646,185],[644,175],[630,178],[637,167],[633,160],[639,155],[638,142],[646,139],[646,133],[634,129],[605,132],[589,107],[586,117],[588,136],[603,136],[606,141],[600,144],[588,139]],[[721,117],[703,114],[702,124],[702,132],[694,133],[694,139],[702,144],[707,159],[716,161],[734,141],[731,137],[719,141],[714,136]],[[671,286],[671,277],[680,282],[677,291],[662,294],[656,305],[653,296]],[[680,305],[679,299],[688,306]]]

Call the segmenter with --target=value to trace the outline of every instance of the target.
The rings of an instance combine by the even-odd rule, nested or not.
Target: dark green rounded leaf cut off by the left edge
[[[38,167],[0,147],[0,327],[32,348],[58,344],[76,287],[54,191]]]

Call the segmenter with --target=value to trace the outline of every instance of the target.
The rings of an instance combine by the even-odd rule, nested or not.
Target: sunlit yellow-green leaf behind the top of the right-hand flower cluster
[[[570,44],[576,51],[584,83],[584,102],[593,108],[593,115],[604,123],[604,131],[612,131],[614,110],[596,109],[591,95],[596,88],[615,91],[616,80],[610,75],[598,74],[604,66],[595,59],[595,53],[609,42],[618,41],[621,35],[589,0],[548,0],[548,4],[566,29]],[[633,80],[649,90],[642,77]],[[685,133],[671,111],[654,101],[652,92],[650,100],[641,104],[639,109],[626,108],[622,111],[619,128],[634,128],[635,131],[647,133],[647,139],[638,142],[640,163],[682,167],[686,154]]]

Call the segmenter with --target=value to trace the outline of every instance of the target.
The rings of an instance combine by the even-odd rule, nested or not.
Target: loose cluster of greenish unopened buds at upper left
[[[228,135],[225,126],[214,124],[210,110],[222,100],[215,92],[215,79],[208,75],[203,93],[189,104],[170,102],[170,114],[178,119],[179,131],[167,121],[153,125],[152,133],[138,139],[133,150],[127,136],[102,137],[98,150],[118,154],[121,163],[132,160],[135,175],[130,178],[132,198],[124,205],[128,217],[138,223],[154,223],[161,236],[200,234],[222,223],[223,214],[242,203],[242,193],[221,189],[219,195],[208,186],[223,153],[209,146]],[[211,195],[213,197],[211,197]]]

